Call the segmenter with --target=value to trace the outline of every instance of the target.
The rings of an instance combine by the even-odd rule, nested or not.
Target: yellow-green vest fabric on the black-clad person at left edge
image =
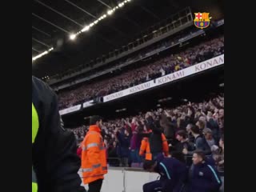
[[[38,128],[39,128],[38,112],[35,109],[34,104],[32,102],[32,144],[34,143],[34,139],[38,134]],[[37,191],[38,191],[38,184],[32,181],[32,192],[37,192]]]

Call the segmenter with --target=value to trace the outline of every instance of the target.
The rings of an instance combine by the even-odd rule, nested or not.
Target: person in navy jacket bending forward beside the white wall
[[[160,180],[146,183],[143,186],[143,192],[180,192],[185,186],[186,164],[179,162],[176,158],[164,158],[161,154],[155,161],[146,160],[143,168],[161,175]]]

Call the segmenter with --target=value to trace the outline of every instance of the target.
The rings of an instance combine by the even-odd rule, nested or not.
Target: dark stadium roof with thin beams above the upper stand
[[[218,11],[223,9],[218,4],[222,0],[130,0],[86,33],[70,40],[70,34],[76,34],[102,15],[107,15],[107,11],[120,2],[124,0],[33,0],[32,58],[52,47],[54,50],[33,62],[32,74],[39,78],[51,76],[90,62],[142,37],[154,30],[150,26],[186,6],[194,11],[214,13],[216,17],[220,17]]]

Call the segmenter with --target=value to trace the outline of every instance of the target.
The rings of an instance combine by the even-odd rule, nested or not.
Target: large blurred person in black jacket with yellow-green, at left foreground
[[[81,162],[76,150],[74,134],[63,128],[56,94],[32,76],[32,178],[38,192],[86,191],[78,175]]]

